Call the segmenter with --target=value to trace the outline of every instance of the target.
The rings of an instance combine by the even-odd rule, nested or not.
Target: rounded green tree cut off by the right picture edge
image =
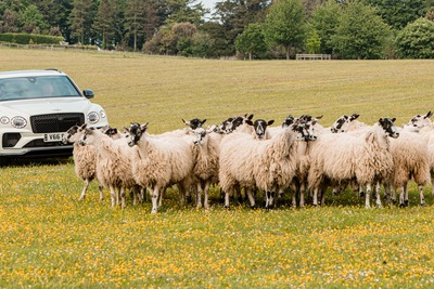
[[[434,58],[434,22],[421,17],[396,37],[396,52],[403,58]]]

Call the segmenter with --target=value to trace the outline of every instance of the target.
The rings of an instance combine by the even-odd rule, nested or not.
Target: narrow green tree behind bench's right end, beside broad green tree
[[[321,41],[321,53],[333,53],[331,38],[335,34],[341,13],[341,4],[336,3],[335,0],[329,0],[322,5],[317,6],[311,14],[310,29],[318,32]]]

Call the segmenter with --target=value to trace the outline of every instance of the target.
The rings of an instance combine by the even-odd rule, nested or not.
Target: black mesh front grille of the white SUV
[[[53,114],[30,117],[34,133],[65,132],[85,123],[85,114]]]

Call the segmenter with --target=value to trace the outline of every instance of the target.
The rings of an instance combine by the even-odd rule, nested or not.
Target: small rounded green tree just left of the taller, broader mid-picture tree
[[[251,23],[244,31],[235,39],[237,50],[248,54],[248,60],[252,60],[252,54],[264,53],[267,51],[263,27],[258,23]]]

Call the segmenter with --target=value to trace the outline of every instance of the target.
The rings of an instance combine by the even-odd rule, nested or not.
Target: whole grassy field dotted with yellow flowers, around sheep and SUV
[[[343,114],[407,122],[433,109],[433,61],[241,62],[140,54],[0,49],[1,70],[59,68],[95,92],[114,127],[151,132],[240,114],[276,119]],[[327,206],[269,212],[180,207],[169,191],[124,210],[78,201],[72,159],[1,168],[0,288],[432,288],[434,198],[425,207],[365,209],[349,192]]]

